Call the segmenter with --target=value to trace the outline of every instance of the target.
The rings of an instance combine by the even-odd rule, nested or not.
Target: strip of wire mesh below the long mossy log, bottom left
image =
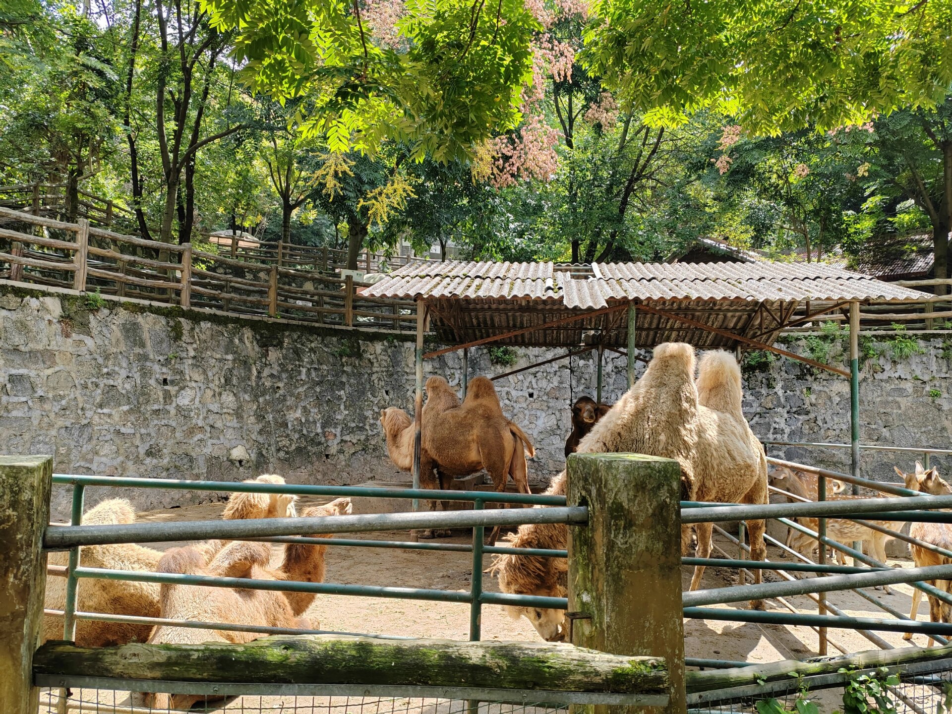
[[[209,695],[188,709],[193,714],[228,712],[233,714],[555,714],[568,704],[511,704],[472,702],[438,697],[308,696],[281,694],[274,685],[270,695]],[[66,692],[44,688],[39,714],[163,714],[183,711],[172,704],[149,705],[146,696],[108,688],[73,688]]]

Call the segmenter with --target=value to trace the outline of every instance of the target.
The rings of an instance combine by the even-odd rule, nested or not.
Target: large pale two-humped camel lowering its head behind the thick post
[[[665,343],[654,350],[645,374],[596,424],[579,445],[580,453],[635,452],[675,459],[681,465],[682,498],[716,503],[765,504],[767,469],[764,447],[741,411],[741,370],[726,352],[708,352],[694,381],[694,349]],[[565,471],[547,491],[565,494]],[[764,560],[764,521],[748,521],[751,558]],[[698,524],[697,555],[711,548],[711,525]],[[682,551],[689,544],[682,526]],[[512,545],[565,548],[566,526],[526,525]],[[492,571],[504,592],[565,596],[565,561],[504,555]],[[704,567],[694,569],[690,589],[701,585]],[[754,582],[760,583],[760,571]],[[751,607],[763,607],[751,601]],[[507,607],[514,618],[526,616],[546,640],[565,638],[565,613],[543,608]]]

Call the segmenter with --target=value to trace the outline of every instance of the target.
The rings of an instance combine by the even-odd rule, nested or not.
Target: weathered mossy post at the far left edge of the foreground
[[[33,652],[43,631],[50,456],[0,456],[0,711],[36,714]]]

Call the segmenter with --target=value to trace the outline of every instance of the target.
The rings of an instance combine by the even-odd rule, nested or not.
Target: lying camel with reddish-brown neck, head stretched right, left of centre
[[[307,508],[303,515],[305,518],[323,518],[347,515],[351,510],[350,499],[340,498],[327,506]],[[328,535],[315,534],[310,537],[327,538]],[[286,544],[281,565],[271,568],[271,549],[268,544],[234,541],[223,547],[210,563],[206,563],[199,549],[186,546],[169,550],[162,556],[158,567],[159,572],[165,573],[322,583],[326,551],[327,545]],[[314,598],[313,593],[303,592],[165,584],[161,587],[160,610],[161,616],[167,619],[309,629],[311,625],[320,627],[318,622],[308,621],[304,617]],[[149,637],[149,644],[243,644],[259,636],[252,632],[158,625]],[[147,704],[154,708],[188,709],[207,697],[149,693],[146,698]]]

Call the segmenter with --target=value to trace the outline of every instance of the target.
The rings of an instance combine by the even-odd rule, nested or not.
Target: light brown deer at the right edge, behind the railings
[[[940,475],[936,468],[928,470],[922,468],[920,462],[916,462],[914,473],[905,473],[899,466],[893,466],[896,473],[902,476],[905,487],[913,491],[921,491],[930,496],[947,496],[952,494],[952,486],[949,486]],[[930,545],[936,545],[946,550],[952,550],[952,532],[949,526],[943,523],[913,523],[909,526],[909,535]],[[916,567],[926,567],[928,565],[952,565],[952,558],[946,558],[944,555],[926,550],[921,545],[909,544],[909,550],[912,552],[912,562]],[[930,580],[927,585],[938,587],[943,592],[952,593],[952,581]],[[952,622],[952,607],[942,603],[931,595],[926,595],[929,601],[929,622],[948,623]],[[915,620],[916,613],[919,611],[919,603],[922,600],[922,590],[913,588],[912,590],[912,609],[909,611],[909,619]],[[911,640],[912,633],[906,632],[902,635],[903,640]],[[929,638],[929,646],[935,644],[935,640]]]

